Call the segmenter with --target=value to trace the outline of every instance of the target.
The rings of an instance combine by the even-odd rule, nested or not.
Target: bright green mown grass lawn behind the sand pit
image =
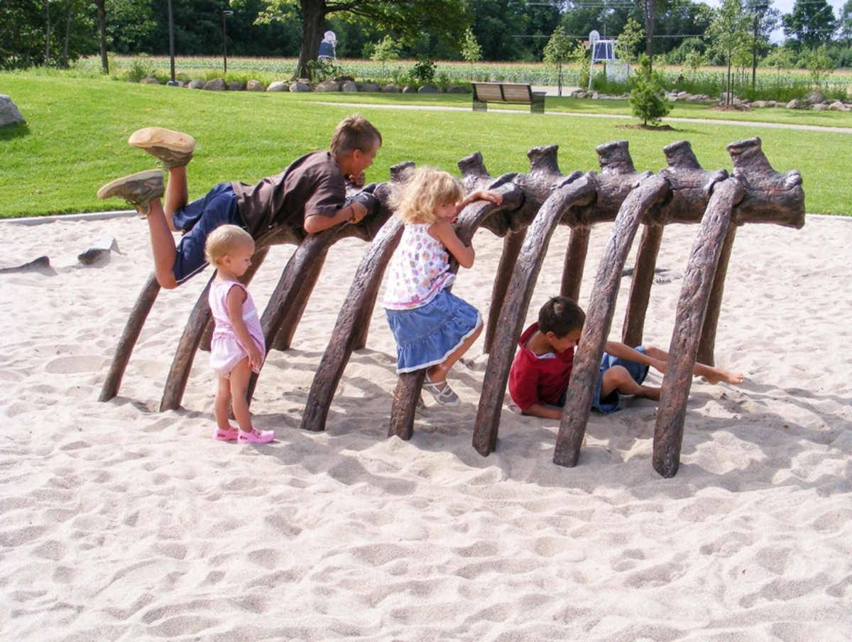
[[[676,120],[669,121],[674,131],[644,131],[619,129],[620,124],[636,123],[627,101],[550,96],[549,113],[624,118],[538,116],[500,109],[473,113],[384,108],[388,104],[469,108],[469,95],[216,93],[18,73],[0,73],[0,93],[8,94],[27,119],[26,127],[0,130],[0,217],[122,208],[116,200],[97,200],[95,192],[113,178],[153,168],[153,157],[126,143],[140,127],[156,124],[196,137],[199,146],[189,167],[189,181],[198,196],[216,182],[255,182],[281,171],[303,153],[327,147],[335,124],[354,111],[376,124],[384,137],[376,163],[367,173],[370,181],[387,180],[390,165],[403,160],[458,174],[458,160],[477,151],[492,176],[527,171],[527,150],[550,144],[560,147],[563,173],[596,170],[595,147],[621,139],[630,141],[630,153],[640,171],[659,171],[665,166],[662,148],[678,140],[692,143],[705,168],[729,170],[726,145],[760,136],[776,170],[802,172],[807,211],[852,213],[852,187],[843,161],[852,143],[850,113],[784,109],[720,113],[676,104],[671,113],[676,118],[823,124],[848,127],[849,135]],[[335,104],[342,102],[365,107]]]

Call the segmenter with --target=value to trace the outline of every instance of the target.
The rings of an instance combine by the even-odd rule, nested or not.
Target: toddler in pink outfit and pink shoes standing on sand
[[[213,438],[221,442],[267,443],[275,438],[274,431],[252,427],[245,400],[251,372],[260,372],[266,354],[257,309],[248,290],[238,281],[249,269],[254,252],[255,241],[236,225],[216,228],[204,243],[204,255],[216,267],[209,297],[210,311],[216,321],[210,340],[210,366],[218,375]],[[239,428],[230,425],[227,419],[229,400]]]

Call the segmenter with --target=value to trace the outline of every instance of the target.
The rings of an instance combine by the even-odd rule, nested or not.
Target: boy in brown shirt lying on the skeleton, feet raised
[[[167,289],[204,269],[204,241],[220,225],[238,225],[255,238],[280,227],[302,227],[315,234],[338,223],[358,223],[376,205],[365,192],[346,198],[346,181],[363,185],[364,171],[382,146],[379,131],[357,115],[337,125],[328,151],[308,153],[256,185],[219,183],[192,203],[187,202],[187,164],[195,149],[192,136],[146,127],[135,131],[128,142],[162,162],[169,173],[168,188],[164,189],[162,171],[142,171],[107,183],[98,190],[98,198],[123,198],[147,217],[154,275]],[[176,231],[184,233],[177,244],[172,235]]]

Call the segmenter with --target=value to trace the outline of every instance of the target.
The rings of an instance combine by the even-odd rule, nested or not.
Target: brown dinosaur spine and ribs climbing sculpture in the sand
[[[495,179],[486,171],[479,153],[458,164],[468,190],[498,189],[503,194],[501,205],[482,202],[469,205],[456,223],[457,234],[464,242],[469,242],[480,227],[504,237],[504,251],[492,289],[492,307],[486,327],[486,351],[490,356],[475,420],[474,447],[487,455],[496,446],[509,366],[557,224],[571,228],[561,294],[576,299],[579,298],[591,227],[614,221],[587,309],[581,347],[574,358],[568,402],[556,439],[554,462],[575,466],[589,419],[597,364],[612,326],[620,277],[639,225],[645,227],[622,333],[624,342],[630,345],[642,343],[642,327],[665,225],[700,223],[677,308],[676,332],[671,341],[671,357],[653,437],[653,467],[663,477],[672,477],[679,464],[695,361],[713,363],[722,289],[736,228],[744,223],[775,223],[801,228],[804,224],[802,178],[797,171],[786,174],[774,171],[763,154],[759,138],[728,146],[734,161],[733,176],[728,176],[724,170],[702,169],[688,142],[675,142],[665,147],[668,167],[663,171],[656,175],[640,173],[633,167],[625,141],[597,147],[599,173],[574,171],[563,176],[556,163],[557,148],[530,150],[527,174],[506,174]],[[395,165],[391,171],[394,182],[399,181],[411,165]],[[356,270],[331,341],[308,392],[302,417],[302,428],[307,430],[325,429],[328,410],[349,356],[353,350],[366,345],[366,333],[384,269],[399,243],[402,230],[398,221],[388,220],[387,202],[392,189],[389,183],[376,188],[375,195],[383,204],[381,210],[360,226],[326,230],[307,237],[301,230],[284,230],[258,240],[250,275],[262,262],[268,246],[281,242],[299,243],[262,318],[268,346],[283,350],[290,345],[329,246],[343,236],[372,239],[369,251]],[[453,265],[453,269],[458,266]],[[115,396],[130,350],[157,292],[158,286],[152,277],[131,312],[101,401]],[[206,302],[205,291],[181,338],[161,410],[176,408],[180,403],[194,352],[210,320]],[[412,437],[424,372],[400,375],[394,392],[389,435],[403,439]]]

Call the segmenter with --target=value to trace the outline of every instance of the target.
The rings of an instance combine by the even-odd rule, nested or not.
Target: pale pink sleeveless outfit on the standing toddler
[[[249,291],[238,281],[213,281],[210,283],[210,311],[216,321],[216,329],[213,338],[210,339],[210,367],[225,379],[230,378],[233,367],[249,355],[248,350],[240,342],[237,333],[231,324],[231,317],[227,314],[227,294],[232,287],[241,287],[245,291],[243,302],[243,321],[248,328],[251,338],[255,340],[257,349],[262,355],[266,354],[266,344],[263,341],[263,330],[261,320],[257,316],[255,302],[251,300]],[[259,370],[256,370],[259,372]]]

